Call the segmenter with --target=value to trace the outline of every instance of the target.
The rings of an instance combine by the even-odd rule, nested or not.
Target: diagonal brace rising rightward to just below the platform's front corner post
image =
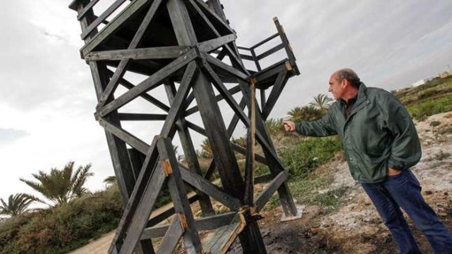
[[[131,100],[134,100],[136,97],[140,96],[142,93],[151,90],[161,84],[161,82],[166,79],[168,76],[178,71],[186,64],[190,63],[192,60],[196,58],[196,52],[192,49],[188,53],[183,56],[177,58],[170,64],[166,65],[164,68],[160,69],[153,75],[149,76],[147,79],[142,81],[136,87],[130,89],[126,93],[119,96],[116,100],[108,103],[104,107],[99,110],[99,114],[104,116],[110,113],[113,110],[120,108],[121,106],[127,104]]]

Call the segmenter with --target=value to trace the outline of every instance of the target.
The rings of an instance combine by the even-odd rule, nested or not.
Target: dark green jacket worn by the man
[[[421,159],[421,144],[411,116],[392,93],[361,83],[347,119],[344,102],[333,103],[322,119],[296,123],[307,136],[338,134],[354,180],[376,183],[388,168],[405,170]]]

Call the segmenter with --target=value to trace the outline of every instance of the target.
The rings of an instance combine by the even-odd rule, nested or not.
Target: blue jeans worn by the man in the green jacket
[[[425,203],[421,186],[411,170],[388,177],[381,183],[361,184],[372,200],[400,253],[422,253],[403,218],[402,208],[415,226],[430,242],[436,254],[452,253],[452,234],[447,230],[434,210]]]

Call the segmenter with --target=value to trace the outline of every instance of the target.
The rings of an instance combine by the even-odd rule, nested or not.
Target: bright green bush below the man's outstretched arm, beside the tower
[[[341,150],[341,140],[333,136],[306,139],[295,147],[281,149],[279,154],[292,177],[305,178],[313,169],[329,161],[334,153]]]

